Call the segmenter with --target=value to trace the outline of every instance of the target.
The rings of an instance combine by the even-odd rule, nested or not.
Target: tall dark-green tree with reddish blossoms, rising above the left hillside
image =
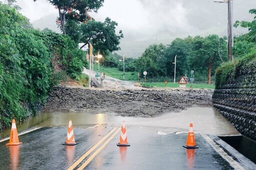
[[[117,22],[108,17],[104,22],[95,21],[89,15],[90,11],[96,12],[104,0],[47,1],[58,9],[59,17],[56,19],[56,23],[60,30],[63,34],[68,34],[76,43],[82,42],[85,46],[90,42],[94,49],[101,52],[120,49],[118,45],[123,34],[121,30],[116,34]]]

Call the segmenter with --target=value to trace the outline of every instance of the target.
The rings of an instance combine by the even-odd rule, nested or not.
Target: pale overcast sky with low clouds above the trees
[[[34,27],[58,31],[57,10],[47,0],[16,1]],[[252,20],[248,10],[253,7],[256,0],[234,0],[233,20]],[[117,53],[128,57],[140,56],[149,44],[169,44],[176,37],[227,34],[227,4],[213,0],[104,0],[103,7],[90,15],[100,21],[108,16],[118,23],[124,38]],[[240,34],[246,29],[233,31]]]

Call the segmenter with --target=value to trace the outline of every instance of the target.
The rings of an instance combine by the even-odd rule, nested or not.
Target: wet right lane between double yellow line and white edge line
[[[199,148],[186,149],[187,133],[127,130],[129,147],[117,147],[116,136],[86,169],[233,169],[200,134],[195,134]]]

